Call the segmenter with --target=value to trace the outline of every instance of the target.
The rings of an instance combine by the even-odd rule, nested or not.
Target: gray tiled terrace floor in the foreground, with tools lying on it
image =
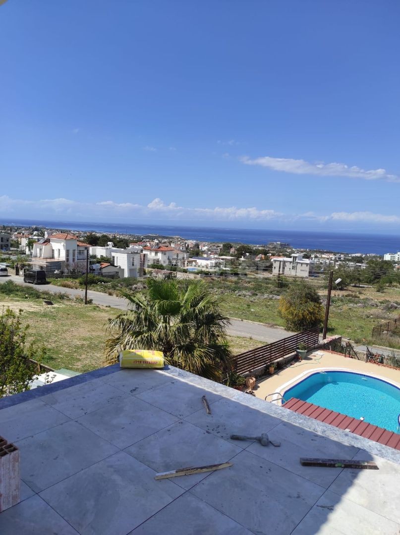
[[[229,438],[261,432],[281,447]],[[20,448],[22,470],[2,535],[400,532],[398,452],[177,368],[110,366],[5,398],[0,435]],[[307,468],[303,456],[380,469]]]

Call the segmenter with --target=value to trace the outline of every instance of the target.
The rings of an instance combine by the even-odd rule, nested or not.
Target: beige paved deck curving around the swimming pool
[[[319,349],[309,353],[301,362],[293,363],[287,368],[274,373],[273,376],[257,381],[254,393],[257,398],[265,399],[268,394],[274,392],[283,393],[289,384],[296,383],[295,379],[304,379],[307,375],[323,369],[336,369],[344,371],[354,371],[366,373],[380,379],[387,380],[400,387],[400,369],[388,368],[371,362],[359,361],[354,358],[345,357],[341,353],[334,353],[325,349]],[[274,401],[279,396],[270,396],[268,401]],[[287,400],[286,400],[287,401]],[[281,404],[279,402],[279,404]]]

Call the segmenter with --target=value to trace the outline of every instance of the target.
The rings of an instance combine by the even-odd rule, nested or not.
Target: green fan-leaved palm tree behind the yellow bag
[[[107,364],[125,349],[155,349],[167,363],[210,379],[231,368],[229,318],[203,281],[148,279],[146,293],[121,295],[130,310],[109,320]]]

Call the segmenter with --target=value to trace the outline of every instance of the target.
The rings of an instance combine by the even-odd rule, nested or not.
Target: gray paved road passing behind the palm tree
[[[5,282],[6,280],[12,280],[17,284],[22,286],[32,286],[28,282],[24,282],[22,277],[17,277],[11,275],[10,277],[0,277],[0,283]],[[66,293],[71,296],[80,295],[84,297],[84,290],[77,290],[74,288],[64,288],[62,286],[54,286],[52,284],[43,284],[36,285],[36,289],[41,291],[48,291],[52,293]],[[93,303],[100,304],[103,307],[113,307],[120,310],[127,310],[128,302],[125,299],[116,297],[115,295],[108,295],[101,292],[92,292],[88,291],[87,296],[89,299],[93,299]],[[240,336],[244,338],[254,338],[254,340],[260,340],[261,342],[275,342],[276,340],[281,340],[282,338],[288,337],[291,332],[285,331],[282,328],[278,327],[268,327],[262,323],[252,323],[241,321],[240,319],[231,319],[231,325],[228,327],[228,334],[232,336]]]

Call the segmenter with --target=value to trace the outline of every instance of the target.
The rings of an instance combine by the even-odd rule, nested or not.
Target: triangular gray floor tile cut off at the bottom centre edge
[[[173,535],[251,535],[228,516],[187,493],[129,535],[165,533],[167,526],[168,533]]]

